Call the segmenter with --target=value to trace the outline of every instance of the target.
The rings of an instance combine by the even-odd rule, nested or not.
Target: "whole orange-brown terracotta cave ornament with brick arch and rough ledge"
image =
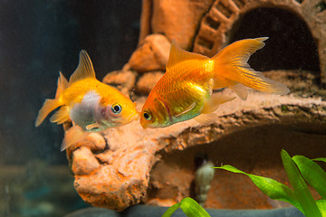
[[[304,19],[318,39],[321,72],[266,72],[267,77],[288,85],[292,93],[280,97],[250,92],[246,101],[235,99],[217,109],[219,118],[210,126],[192,119],[145,130],[135,121],[88,137],[67,150],[75,188],[82,199],[119,211],[140,202],[168,206],[177,203],[192,196],[192,162],[198,152],[206,152],[216,165],[234,165],[284,184],[288,181],[280,160],[282,148],[291,156],[325,156],[326,91],[317,80],[321,77],[323,81],[326,71],[326,14],[315,6],[318,1],[299,2],[143,0],[139,48],[122,71],[104,79],[126,94],[133,82],[137,82],[140,94],[153,88],[164,71],[173,39],[184,49],[215,54],[228,43],[242,15],[265,6],[289,10]],[[222,93],[233,94],[229,90]],[[136,97],[140,110],[145,98]],[[284,205],[271,201],[245,175],[220,170],[216,171],[205,204],[207,208],[221,209]]]

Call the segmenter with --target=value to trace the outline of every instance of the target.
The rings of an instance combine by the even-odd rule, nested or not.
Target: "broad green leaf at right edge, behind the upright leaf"
[[[293,156],[295,164],[298,166],[304,180],[326,199],[326,173],[321,166],[314,163],[305,156]]]

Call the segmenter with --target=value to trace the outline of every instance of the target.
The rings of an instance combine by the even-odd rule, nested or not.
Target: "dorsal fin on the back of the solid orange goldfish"
[[[194,53],[194,52],[187,52],[179,47],[177,47],[175,40],[172,41],[171,44],[171,50],[168,56],[168,64],[167,64],[167,70],[177,63],[181,61],[188,61],[188,60],[207,60],[208,57]]]

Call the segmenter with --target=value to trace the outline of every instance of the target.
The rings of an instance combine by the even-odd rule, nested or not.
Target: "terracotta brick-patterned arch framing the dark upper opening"
[[[193,52],[214,55],[230,42],[235,22],[260,7],[289,11],[307,24],[318,44],[321,82],[326,83],[326,3],[322,0],[216,0],[201,20]]]

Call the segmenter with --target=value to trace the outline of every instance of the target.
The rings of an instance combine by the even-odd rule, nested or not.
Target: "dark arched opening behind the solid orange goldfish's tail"
[[[320,71],[318,48],[312,33],[301,17],[280,8],[254,9],[235,22],[230,42],[245,38],[266,37],[264,49],[250,58],[257,71]]]

